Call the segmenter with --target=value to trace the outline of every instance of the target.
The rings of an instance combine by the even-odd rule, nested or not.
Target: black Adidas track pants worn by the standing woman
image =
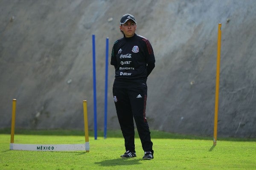
[[[147,87],[113,88],[113,97],[118,121],[125,139],[125,150],[135,151],[135,120],[143,150],[153,152],[153,143],[145,117]]]

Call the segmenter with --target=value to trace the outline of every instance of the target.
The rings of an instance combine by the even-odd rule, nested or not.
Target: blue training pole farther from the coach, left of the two
[[[97,99],[96,99],[96,64],[95,64],[95,35],[93,39],[93,108],[94,108],[94,139],[97,139]]]

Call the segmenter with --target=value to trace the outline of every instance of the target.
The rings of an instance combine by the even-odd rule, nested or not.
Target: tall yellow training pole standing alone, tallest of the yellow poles
[[[216,145],[216,142],[217,142],[220,61],[221,61],[221,23],[218,24],[218,45],[217,45],[217,66],[216,66],[216,90],[215,90],[215,113],[214,113],[213,145]]]

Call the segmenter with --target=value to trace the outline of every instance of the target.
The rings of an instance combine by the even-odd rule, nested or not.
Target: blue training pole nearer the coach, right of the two
[[[106,64],[105,64],[105,114],[104,114],[104,138],[107,138],[108,117],[108,37],[106,38]]]

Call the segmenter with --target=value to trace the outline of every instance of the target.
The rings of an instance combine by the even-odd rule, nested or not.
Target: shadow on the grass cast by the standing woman
[[[109,166],[119,166],[119,165],[131,165],[131,164],[141,164],[140,159],[135,159],[135,158],[128,158],[128,159],[110,159],[110,160],[104,160],[104,161],[99,161],[95,162],[95,164],[103,167],[109,167]]]

